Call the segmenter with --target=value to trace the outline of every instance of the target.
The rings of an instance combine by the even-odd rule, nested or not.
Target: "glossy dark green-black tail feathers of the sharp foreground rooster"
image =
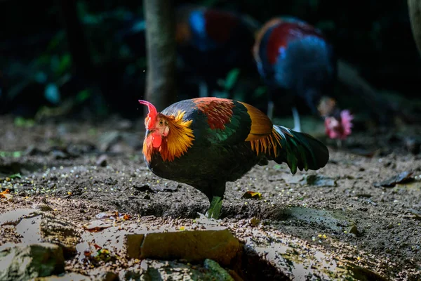
[[[316,138],[284,126],[274,125],[274,129],[279,133],[279,143],[282,145],[281,152],[274,160],[278,164],[288,164],[291,173],[295,174],[297,167],[300,171],[317,170],[328,163],[329,150]]]

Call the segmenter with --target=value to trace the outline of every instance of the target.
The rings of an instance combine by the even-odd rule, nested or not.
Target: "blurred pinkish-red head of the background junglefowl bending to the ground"
[[[354,116],[349,113],[349,110],[342,110],[342,112],[340,112],[340,119],[326,117],[326,135],[328,135],[329,138],[345,140],[347,136],[351,134],[352,119],[354,119]]]

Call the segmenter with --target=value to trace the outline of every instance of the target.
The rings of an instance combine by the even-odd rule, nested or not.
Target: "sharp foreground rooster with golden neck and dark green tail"
[[[147,105],[143,154],[149,169],[160,176],[187,183],[210,201],[207,216],[218,218],[225,183],[236,181],[253,166],[268,160],[297,168],[325,166],[329,152],[307,133],[272,124],[257,108],[225,98],[182,100],[157,112]]]

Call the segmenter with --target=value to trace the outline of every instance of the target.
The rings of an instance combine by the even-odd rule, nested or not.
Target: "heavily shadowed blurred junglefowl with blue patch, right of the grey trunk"
[[[255,70],[253,53],[259,24],[246,15],[185,5],[176,13],[178,55],[189,77],[199,80],[199,96],[211,96],[218,79],[239,67]]]

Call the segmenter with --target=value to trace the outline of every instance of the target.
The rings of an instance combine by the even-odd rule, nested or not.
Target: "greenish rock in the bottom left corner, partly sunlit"
[[[51,243],[0,246],[0,280],[30,280],[65,271],[62,249]]]

